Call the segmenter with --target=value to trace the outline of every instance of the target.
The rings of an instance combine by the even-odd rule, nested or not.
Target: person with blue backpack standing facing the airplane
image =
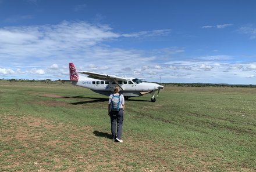
[[[115,141],[123,142],[122,128],[123,128],[123,115],[125,114],[125,98],[119,94],[119,86],[115,86],[114,93],[109,96],[108,101],[108,115],[111,118],[111,134],[112,139]],[[116,130],[117,124],[117,130]]]

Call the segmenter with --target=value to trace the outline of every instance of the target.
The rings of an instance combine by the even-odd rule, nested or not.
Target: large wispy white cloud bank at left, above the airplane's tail
[[[70,56],[81,49],[120,36],[111,30],[107,25],[91,25],[83,21],[5,27],[0,30],[0,52],[5,56],[19,58]]]

